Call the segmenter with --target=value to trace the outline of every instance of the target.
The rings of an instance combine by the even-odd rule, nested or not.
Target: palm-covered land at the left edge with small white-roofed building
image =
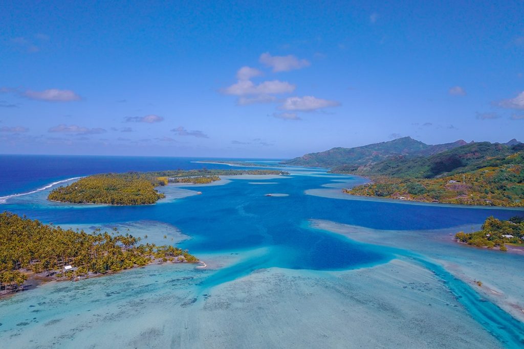
[[[140,240],[117,230],[90,234],[0,213],[0,295],[23,289],[28,277],[78,280],[152,263],[199,261],[177,247]]]

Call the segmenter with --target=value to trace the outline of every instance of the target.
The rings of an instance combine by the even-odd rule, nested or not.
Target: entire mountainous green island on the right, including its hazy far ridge
[[[306,154],[287,164],[325,166],[372,183],[344,193],[446,204],[524,207],[524,144],[457,141],[428,145],[409,137]]]

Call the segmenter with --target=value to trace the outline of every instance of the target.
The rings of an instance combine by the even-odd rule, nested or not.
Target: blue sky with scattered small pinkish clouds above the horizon
[[[524,140],[524,3],[0,3],[0,153]]]

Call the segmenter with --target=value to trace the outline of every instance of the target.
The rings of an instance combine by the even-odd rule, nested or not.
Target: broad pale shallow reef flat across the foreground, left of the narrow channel
[[[439,278],[405,261],[344,272],[259,269],[202,288],[213,272],[154,265],[49,283],[2,301],[9,320],[0,337],[20,348],[500,347]]]

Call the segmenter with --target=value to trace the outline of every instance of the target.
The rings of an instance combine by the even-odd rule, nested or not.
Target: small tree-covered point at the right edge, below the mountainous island
[[[507,251],[506,245],[524,246],[524,218],[515,216],[506,221],[488,217],[481,230],[473,233],[458,232],[455,239],[460,243],[488,249],[495,247],[500,251]]]

